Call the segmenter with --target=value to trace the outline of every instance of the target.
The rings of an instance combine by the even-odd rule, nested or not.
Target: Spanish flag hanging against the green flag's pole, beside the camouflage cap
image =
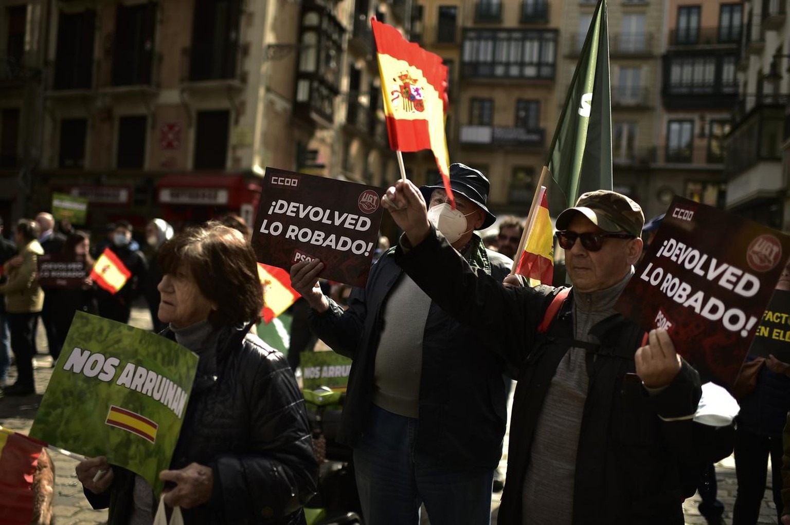
[[[551,286],[554,278],[554,233],[551,231],[545,187],[540,188],[538,198],[540,207],[532,220],[532,231],[527,234],[527,242],[516,267],[516,273],[528,278],[532,287],[539,284]]]

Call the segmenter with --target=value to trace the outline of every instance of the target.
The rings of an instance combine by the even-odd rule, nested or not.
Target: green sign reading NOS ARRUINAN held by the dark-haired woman
[[[157,494],[198,356],[127,324],[77,312],[30,437],[140,474]]]

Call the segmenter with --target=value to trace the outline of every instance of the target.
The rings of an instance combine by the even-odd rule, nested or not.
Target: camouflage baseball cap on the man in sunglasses
[[[581,213],[604,231],[626,231],[639,237],[645,224],[645,214],[639,204],[622,193],[598,189],[583,193],[574,208],[557,217],[557,229],[566,230],[576,213]]]

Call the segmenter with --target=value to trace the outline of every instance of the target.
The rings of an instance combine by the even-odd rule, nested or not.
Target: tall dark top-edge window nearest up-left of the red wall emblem
[[[150,84],[156,3],[124,6],[115,15],[112,84]]]

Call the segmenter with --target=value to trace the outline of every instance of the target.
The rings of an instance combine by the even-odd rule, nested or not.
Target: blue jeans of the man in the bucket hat
[[[494,471],[417,461],[417,423],[372,406],[354,448],[365,523],[418,525],[424,503],[431,525],[490,525]]]

